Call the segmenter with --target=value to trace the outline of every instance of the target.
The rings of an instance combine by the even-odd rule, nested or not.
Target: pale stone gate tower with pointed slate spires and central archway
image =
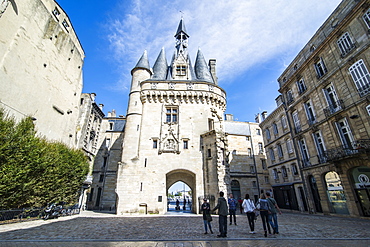
[[[148,212],[165,213],[167,191],[178,181],[192,190],[193,212],[198,211],[199,198],[227,191],[227,179],[220,178],[227,174],[226,147],[217,141],[224,133],[226,94],[217,85],[216,62],[212,59],[207,65],[198,50],[192,65],[183,20],[175,39],[169,65],[162,49],[151,68],[145,51],[131,71],[117,176],[118,214],[139,212],[144,205]],[[212,149],[203,144],[207,133],[218,143],[212,141]],[[212,167],[218,168],[205,174]]]

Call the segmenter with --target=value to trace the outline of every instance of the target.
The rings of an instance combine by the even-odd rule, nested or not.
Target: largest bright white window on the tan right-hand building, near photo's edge
[[[364,61],[361,59],[349,68],[352,79],[356,84],[360,96],[364,96],[370,92],[370,74],[367,70]]]

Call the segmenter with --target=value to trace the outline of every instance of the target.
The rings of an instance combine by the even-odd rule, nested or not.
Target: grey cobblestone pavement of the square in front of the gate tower
[[[285,212],[278,216],[280,234],[263,236],[262,222],[249,234],[247,217],[228,225],[228,237],[204,234],[201,215],[116,216],[84,211],[47,221],[0,225],[0,246],[370,246],[370,219]]]

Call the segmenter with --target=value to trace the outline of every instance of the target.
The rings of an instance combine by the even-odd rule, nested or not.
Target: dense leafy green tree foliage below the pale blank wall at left
[[[19,123],[0,109],[0,208],[74,203],[88,172],[81,150],[36,136],[31,118]]]

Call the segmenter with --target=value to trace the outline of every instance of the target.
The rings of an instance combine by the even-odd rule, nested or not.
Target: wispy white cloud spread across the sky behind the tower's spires
[[[153,66],[162,47],[167,59],[183,13],[194,62],[198,47],[206,59],[217,59],[219,82],[232,83],[239,73],[282,56],[289,63],[340,0],[135,0],[117,6],[109,26],[114,57],[129,84],[128,71],[144,50]],[[180,13],[179,11],[182,11]],[[127,88],[123,86],[121,88]]]

